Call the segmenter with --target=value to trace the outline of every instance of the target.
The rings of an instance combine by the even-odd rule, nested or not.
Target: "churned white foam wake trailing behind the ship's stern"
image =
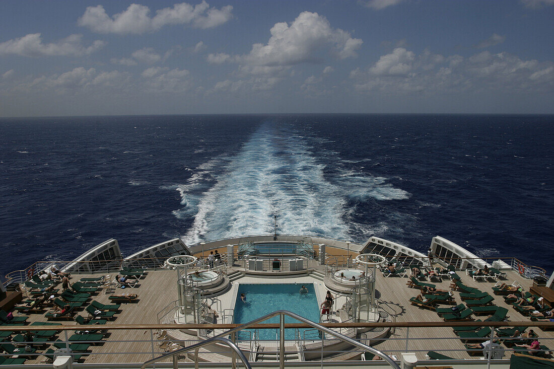
[[[306,139],[261,125],[237,155],[206,163],[175,187],[183,207],[173,214],[194,218],[183,241],[273,233],[274,215],[278,233],[346,239],[348,199],[409,196],[385,183],[386,178],[342,175],[326,180],[324,168]]]

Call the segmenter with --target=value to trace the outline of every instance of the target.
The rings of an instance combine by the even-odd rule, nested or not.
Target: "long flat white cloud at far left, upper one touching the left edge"
[[[66,56],[81,57],[94,53],[106,44],[96,40],[89,47],[81,44],[82,34],[72,34],[55,43],[44,44],[40,33],[29,33],[23,37],[0,43],[0,55],[15,54],[23,57]]]

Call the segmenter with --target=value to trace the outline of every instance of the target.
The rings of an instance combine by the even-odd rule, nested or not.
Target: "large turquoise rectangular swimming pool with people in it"
[[[306,286],[308,293],[300,294],[301,286]],[[240,294],[246,294],[246,303],[240,299]],[[235,323],[247,323],[275,310],[289,310],[314,322],[319,322],[319,305],[313,283],[307,284],[240,284],[235,301]],[[285,323],[299,321],[286,316]],[[264,323],[279,323],[279,317],[274,316]],[[305,331],[306,329],[301,329]],[[295,330],[285,330],[285,340],[295,339]],[[279,337],[278,329],[260,329],[260,340],[275,340]]]

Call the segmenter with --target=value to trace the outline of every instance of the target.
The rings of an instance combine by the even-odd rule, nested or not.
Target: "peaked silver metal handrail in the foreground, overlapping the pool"
[[[397,365],[396,362],[394,362],[394,360],[392,360],[392,358],[388,357],[388,355],[386,355],[385,353],[383,353],[382,351],[379,351],[377,349],[374,349],[373,347],[371,346],[367,346],[367,345],[364,345],[364,344],[361,344],[360,342],[356,341],[356,340],[353,340],[351,339],[350,337],[347,337],[345,335],[342,335],[338,332],[335,332],[334,330],[331,330],[327,327],[324,327],[320,324],[317,324],[317,323],[314,323],[312,322],[311,320],[308,320],[306,319],[305,317],[303,316],[300,316],[300,315],[297,315],[295,314],[294,312],[291,312],[291,311],[287,311],[287,310],[278,310],[278,311],[274,311],[274,312],[271,312],[270,314],[267,314],[267,315],[264,315],[264,316],[261,316],[259,317],[258,319],[254,319],[248,323],[245,323],[243,325],[240,325],[238,327],[235,327],[233,329],[230,329],[228,331],[225,331],[223,332],[222,334],[219,334],[217,336],[214,336],[212,337],[211,339],[208,339],[206,341],[203,342],[204,345],[206,345],[206,342],[208,341],[213,341],[213,340],[216,340],[216,339],[221,339],[223,338],[223,336],[228,336],[228,335],[234,335],[236,332],[240,331],[240,330],[243,330],[243,329],[247,329],[248,327],[251,327],[253,325],[256,325],[258,324],[259,322],[262,322],[262,321],[265,321],[265,320],[268,320],[268,319],[271,319],[272,317],[274,316],[279,316],[279,330],[281,332],[281,336],[279,337],[279,351],[281,353],[280,357],[279,357],[279,366],[280,366],[280,369],[284,369],[285,368],[285,315],[288,315],[290,317],[293,317],[294,319],[296,320],[299,320],[301,321],[302,323],[304,324],[307,324],[311,327],[314,327],[314,328],[317,328],[321,331],[324,331],[326,332],[327,334],[331,335],[331,336],[334,336],[336,337],[337,339],[343,341],[343,342],[347,342],[348,344],[351,344],[352,346],[355,346],[355,347],[358,347],[359,349],[362,349],[362,350],[365,350],[365,351],[369,351],[371,353],[373,353],[374,355],[378,355],[380,357],[383,358],[384,361],[388,362],[389,365],[391,367],[393,367],[394,369],[400,369],[400,367]],[[211,343],[211,342],[209,342]],[[227,343],[227,342],[225,342]],[[229,343],[232,343],[229,341]],[[144,369],[146,365],[148,364],[151,364],[151,363],[155,363],[155,362],[158,362],[160,360],[163,360],[164,358],[167,358],[167,357],[170,357],[172,356],[173,357],[173,366],[176,368],[176,357],[177,355],[183,353],[183,352],[187,352],[187,351],[190,351],[192,349],[197,349],[199,347],[202,347],[204,345],[201,345],[201,344],[196,344],[196,345],[192,345],[192,346],[188,346],[188,347],[184,347],[183,349],[179,349],[179,350],[176,350],[176,351],[173,351],[167,355],[163,355],[163,356],[160,356],[158,358],[155,358],[155,359],[152,359],[152,360],[149,360],[147,362],[145,362],[142,366],[141,366],[141,369]],[[234,346],[236,347],[236,346]],[[232,347],[233,349],[233,347]],[[234,349],[233,349],[234,350]],[[237,350],[238,350],[238,347],[237,347]],[[242,358],[244,358],[244,360],[246,360],[246,357],[244,357],[244,355],[242,355],[241,353],[241,360]],[[244,361],[243,361],[244,362]],[[195,359],[194,359],[194,364],[196,366],[196,368],[198,367],[198,355],[196,355]],[[245,363],[245,366],[247,366],[247,368],[250,368],[250,365],[248,363]],[[234,360],[233,360],[233,367],[234,367]]]

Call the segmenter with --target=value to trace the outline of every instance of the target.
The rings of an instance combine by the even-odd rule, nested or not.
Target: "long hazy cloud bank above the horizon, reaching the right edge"
[[[460,55],[416,55],[395,49],[365,71],[352,70],[350,78],[360,91],[387,94],[461,93],[463,91],[552,91],[554,63],[522,60],[508,53],[484,51],[469,58]]]

